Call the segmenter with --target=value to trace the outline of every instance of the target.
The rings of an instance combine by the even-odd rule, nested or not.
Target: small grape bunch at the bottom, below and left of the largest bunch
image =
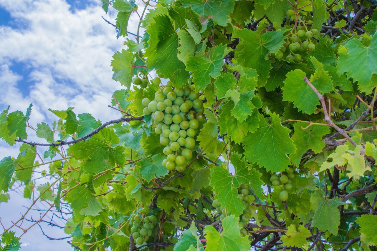
[[[153,214],[147,216],[149,213],[149,208],[143,208],[142,214],[134,214],[130,219],[132,237],[137,245],[147,242],[155,228],[157,217]]]

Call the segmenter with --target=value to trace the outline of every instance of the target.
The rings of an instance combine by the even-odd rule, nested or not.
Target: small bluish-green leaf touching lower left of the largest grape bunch
[[[156,154],[151,159],[144,158],[139,161],[141,165],[140,174],[147,182],[151,181],[155,177],[164,177],[169,173],[169,170],[162,165],[162,161],[165,159],[164,155]]]

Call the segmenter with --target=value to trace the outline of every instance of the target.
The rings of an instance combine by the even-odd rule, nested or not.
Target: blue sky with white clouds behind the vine
[[[112,93],[121,89],[111,80],[110,61],[123,40],[116,40],[115,29],[101,16],[115,23],[116,13],[104,13],[101,0],[0,0],[0,109],[10,105],[11,111],[25,112],[32,103],[33,126],[41,121],[51,124],[48,108],[72,106],[76,113],[92,113],[102,121],[118,118],[107,105]],[[137,16],[132,16],[129,31],[135,33],[137,24]],[[32,135],[29,139],[37,140]],[[18,147],[0,141],[0,159],[17,156]],[[31,204],[22,198],[22,191],[10,192],[11,200],[0,205],[6,227],[25,212],[23,206]],[[46,204],[37,207],[46,208]],[[31,215],[39,217],[38,212]],[[26,227],[29,222],[23,224]],[[52,237],[65,236],[56,228],[45,226],[44,230]],[[59,250],[72,249],[66,240],[47,240],[37,226],[21,242],[30,243],[23,250],[56,249],[57,245]]]

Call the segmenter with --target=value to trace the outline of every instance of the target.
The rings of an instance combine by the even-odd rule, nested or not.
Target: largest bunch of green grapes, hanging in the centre
[[[169,170],[184,171],[186,162],[192,158],[195,135],[199,122],[204,121],[203,101],[199,93],[192,92],[189,85],[175,88],[168,81],[155,93],[155,99],[144,98],[144,115],[152,114],[155,133],[160,135],[163,152],[167,156],[162,164]]]

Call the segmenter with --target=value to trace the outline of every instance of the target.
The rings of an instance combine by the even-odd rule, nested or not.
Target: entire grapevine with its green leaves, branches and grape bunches
[[[2,112],[20,154],[0,162],[0,201],[23,184],[34,204],[69,205],[81,250],[377,246],[377,1],[102,2],[118,39],[140,17],[111,62],[121,118]],[[29,211],[2,216],[4,250],[40,223]]]

